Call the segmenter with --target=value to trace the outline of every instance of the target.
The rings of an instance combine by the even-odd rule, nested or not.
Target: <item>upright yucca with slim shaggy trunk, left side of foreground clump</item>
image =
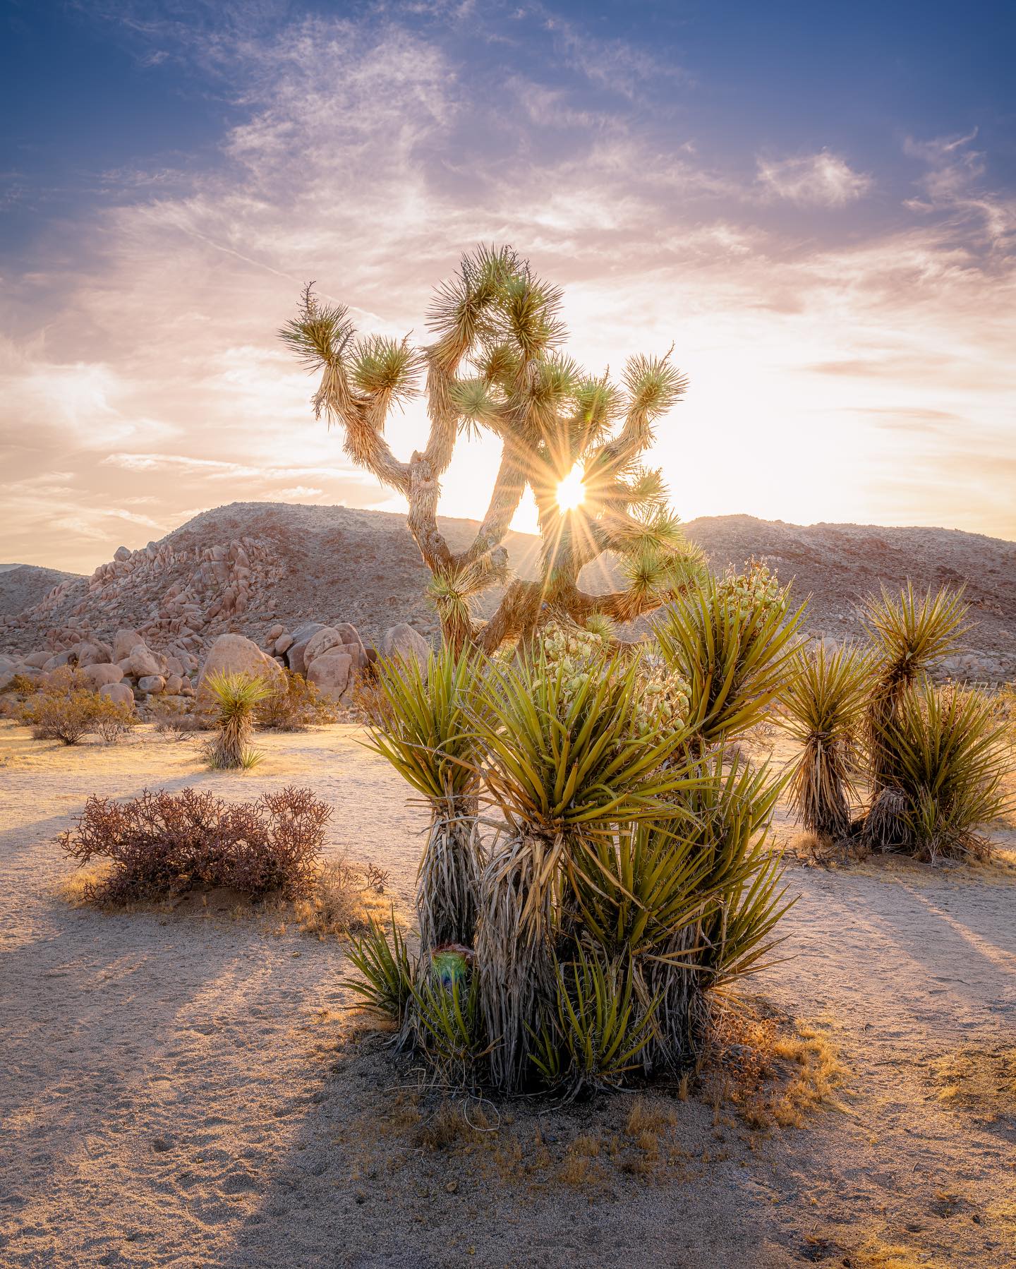
[[[478,654],[450,647],[426,671],[415,659],[382,661],[370,747],[387,758],[430,806],[430,831],[416,878],[420,944],[472,945],[483,854],[477,829],[479,768],[474,737]]]

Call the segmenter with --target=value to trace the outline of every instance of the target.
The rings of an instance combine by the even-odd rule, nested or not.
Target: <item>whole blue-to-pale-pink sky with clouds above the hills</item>
[[[313,279],[425,343],[481,242],[590,371],[675,345],[682,518],[1016,538],[1015,38],[975,0],[0,0],[0,561],[398,509],[277,331]],[[445,514],[497,457],[463,443]]]

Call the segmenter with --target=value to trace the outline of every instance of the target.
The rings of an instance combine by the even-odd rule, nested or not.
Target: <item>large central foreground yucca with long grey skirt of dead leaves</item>
[[[694,777],[663,770],[681,732],[639,735],[637,660],[594,654],[552,661],[542,648],[487,676],[477,733],[486,797],[504,816],[482,878],[477,930],[481,1000],[493,1081],[529,1075],[528,1030],[554,996],[554,942],[570,919],[570,878],[597,869],[591,845],[615,822],[658,816],[665,793]]]

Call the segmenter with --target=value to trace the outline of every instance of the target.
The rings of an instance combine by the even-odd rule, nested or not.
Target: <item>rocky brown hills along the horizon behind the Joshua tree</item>
[[[441,528],[458,548],[477,525],[445,519]],[[857,604],[879,582],[965,584],[975,628],[969,664],[960,669],[989,679],[1016,674],[1016,543],[949,529],[800,527],[746,515],[701,518],[686,528],[715,569],[755,556],[781,580],[793,577],[797,595],[811,595],[811,632],[837,640],[860,632]],[[512,533],[506,546],[515,571],[531,576],[538,539]],[[232,503],[141,551],[120,547],[91,577],[55,575],[60,581],[44,598],[0,615],[0,650],[108,640],[120,627],[133,627],[152,647],[197,654],[225,631],[263,642],[269,627],[290,629],[308,619],[350,622],[373,642],[400,622],[425,636],[436,632],[424,598],[429,575],[405,516],[384,511]],[[9,576],[0,575],[0,585]],[[583,577],[592,590],[611,581],[609,563]],[[485,596],[486,608],[497,598]]]

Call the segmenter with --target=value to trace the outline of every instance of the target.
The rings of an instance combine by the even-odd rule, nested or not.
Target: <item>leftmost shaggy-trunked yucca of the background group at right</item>
[[[809,832],[838,841],[850,831],[871,657],[850,645],[830,652],[818,643],[799,650],[789,670],[779,694],[781,722],[802,746],[790,806]]]

